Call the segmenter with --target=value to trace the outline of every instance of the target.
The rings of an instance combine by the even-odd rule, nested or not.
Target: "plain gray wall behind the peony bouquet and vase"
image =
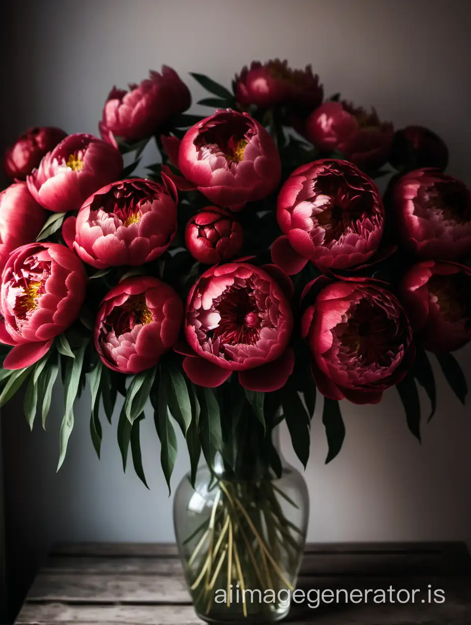
[[[468,3],[24,0],[9,11],[4,22],[10,27],[8,56],[3,58],[3,145],[32,125],[98,133],[111,86],[139,81],[162,63],[187,80],[196,101],[203,89],[188,71],[229,86],[233,74],[251,59],[280,56],[293,67],[311,63],[327,96],[341,91],[355,103],[373,104],[397,128],[432,128],[450,147],[450,173],[471,183]],[[191,110],[196,113],[198,107]],[[153,162],[153,149],[144,156]],[[471,372],[471,349],[457,358]],[[459,404],[435,371],[438,411],[423,427],[422,446],[409,434],[392,389],[379,406],[343,402],[347,438],[340,456],[325,466],[319,399],[305,474],[311,541],[463,539],[471,544],[469,408]],[[123,474],[117,414],[112,426],[104,422],[98,461],[89,439],[88,411],[85,397],[76,408],[68,458],[58,474],[59,389],[47,432],[37,423],[29,433],[19,401],[3,411],[13,603],[53,541],[174,539],[152,420],[142,427],[149,492],[132,471]],[[282,442],[286,458],[297,464],[285,429]],[[174,487],[187,468],[182,446]]]

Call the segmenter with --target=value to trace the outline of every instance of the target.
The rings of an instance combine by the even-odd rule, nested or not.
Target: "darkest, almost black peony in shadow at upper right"
[[[448,148],[440,137],[423,126],[407,126],[396,131],[389,162],[398,171],[423,167],[447,169]]]

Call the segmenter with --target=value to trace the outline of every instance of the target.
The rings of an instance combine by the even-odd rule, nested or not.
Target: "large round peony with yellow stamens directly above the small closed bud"
[[[248,114],[230,109],[216,111],[188,130],[178,166],[211,202],[232,210],[268,196],[281,176],[270,134]]]

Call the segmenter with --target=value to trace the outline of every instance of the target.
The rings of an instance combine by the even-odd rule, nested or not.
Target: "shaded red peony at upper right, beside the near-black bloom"
[[[338,150],[362,169],[377,169],[388,159],[394,131],[375,109],[328,101],[306,119],[303,134],[320,150]]]

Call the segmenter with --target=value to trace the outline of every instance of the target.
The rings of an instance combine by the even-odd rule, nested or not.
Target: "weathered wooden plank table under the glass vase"
[[[414,603],[295,606],[298,625],[471,625],[470,557],[460,542],[309,544],[298,587],[421,589]],[[422,602],[428,584],[442,604]],[[404,598],[403,595],[402,598]],[[16,623],[201,623],[191,607],[175,545],[63,544],[36,577]]]

